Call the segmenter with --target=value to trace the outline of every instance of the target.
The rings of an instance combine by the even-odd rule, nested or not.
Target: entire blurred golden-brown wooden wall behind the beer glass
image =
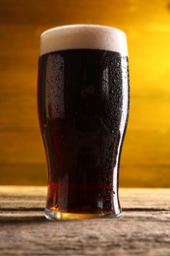
[[[169,0],[0,0],[0,184],[46,184],[36,114],[39,35],[67,24],[127,33],[131,114],[120,184],[169,187]]]

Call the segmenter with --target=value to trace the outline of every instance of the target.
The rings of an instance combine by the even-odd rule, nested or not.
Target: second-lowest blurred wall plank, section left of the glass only
[[[0,132],[1,163],[41,163],[45,154],[39,131]]]

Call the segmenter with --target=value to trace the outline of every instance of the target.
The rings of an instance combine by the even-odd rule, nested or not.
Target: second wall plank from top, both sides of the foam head
[[[140,94],[147,92],[149,95],[156,93],[166,96],[166,92],[169,92],[170,37],[167,33],[169,27],[164,23],[160,26],[155,25],[157,31],[153,26],[154,31],[151,26],[153,25],[133,27],[132,32],[127,32],[130,68],[133,67],[130,69],[132,93],[138,94],[140,90]],[[14,84],[17,89],[19,87],[18,92],[20,89],[26,92],[29,88],[32,91],[36,85],[39,36],[47,27],[39,28],[34,25],[32,29],[32,26],[4,25],[2,27],[1,25],[0,29],[3,31],[0,41],[0,47],[3,49],[0,51],[2,84],[9,86]],[[156,54],[160,51],[159,49],[161,49],[161,54]],[[147,65],[145,57],[143,58],[146,53]],[[157,63],[157,65],[153,65],[153,63]],[[9,73],[10,77],[7,76]],[[12,77],[14,82],[11,80]],[[26,77],[28,77],[27,80]],[[23,88],[21,88],[22,85]],[[24,87],[25,85],[27,87]],[[2,87],[1,90],[5,92],[5,89],[6,87]]]

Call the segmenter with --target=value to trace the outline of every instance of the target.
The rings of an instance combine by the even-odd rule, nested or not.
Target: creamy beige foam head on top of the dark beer
[[[125,32],[99,25],[56,27],[41,34],[40,56],[66,49],[103,49],[128,56]]]

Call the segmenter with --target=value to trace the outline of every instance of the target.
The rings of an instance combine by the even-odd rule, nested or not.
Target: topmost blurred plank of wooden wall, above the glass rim
[[[93,12],[94,9],[95,12]],[[48,3],[44,0],[37,0],[36,4],[28,0],[25,2],[22,0],[1,0],[0,22],[1,24],[17,25],[27,25],[30,23],[35,25],[51,25],[70,24],[75,19],[75,23],[92,23],[95,20],[119,24],[125,24],[126,22],[135,26],[136,24],[139,25],[139,23],[146,23],[146,21],[169,21],[168,9],[169,6],[166,0],[155,0],[154,5],[152,2],[146,1],[135,2],[122,0],[120,2],[119,0],[115,0],[113,5],[111,0],[106,0],[105,2],[101,0],[94,0],[92,2],[90,0],[83,0],[81,2],[71,0],[67,1],[67,6],[66,2],[62,0],[58,0],[57,2],[55,0],[49,0]],[[27,12],[24,12],[24,10],[27,10]],[[101,12],[102,16],[100,15]],[[63,15],[64,13],[65,15]],[[141,15],[139,17],[139,14],[143,16]],[[162,14],[164,14],[163,17]],[[134,23],[134,19],[137,20],[136,24]]]

